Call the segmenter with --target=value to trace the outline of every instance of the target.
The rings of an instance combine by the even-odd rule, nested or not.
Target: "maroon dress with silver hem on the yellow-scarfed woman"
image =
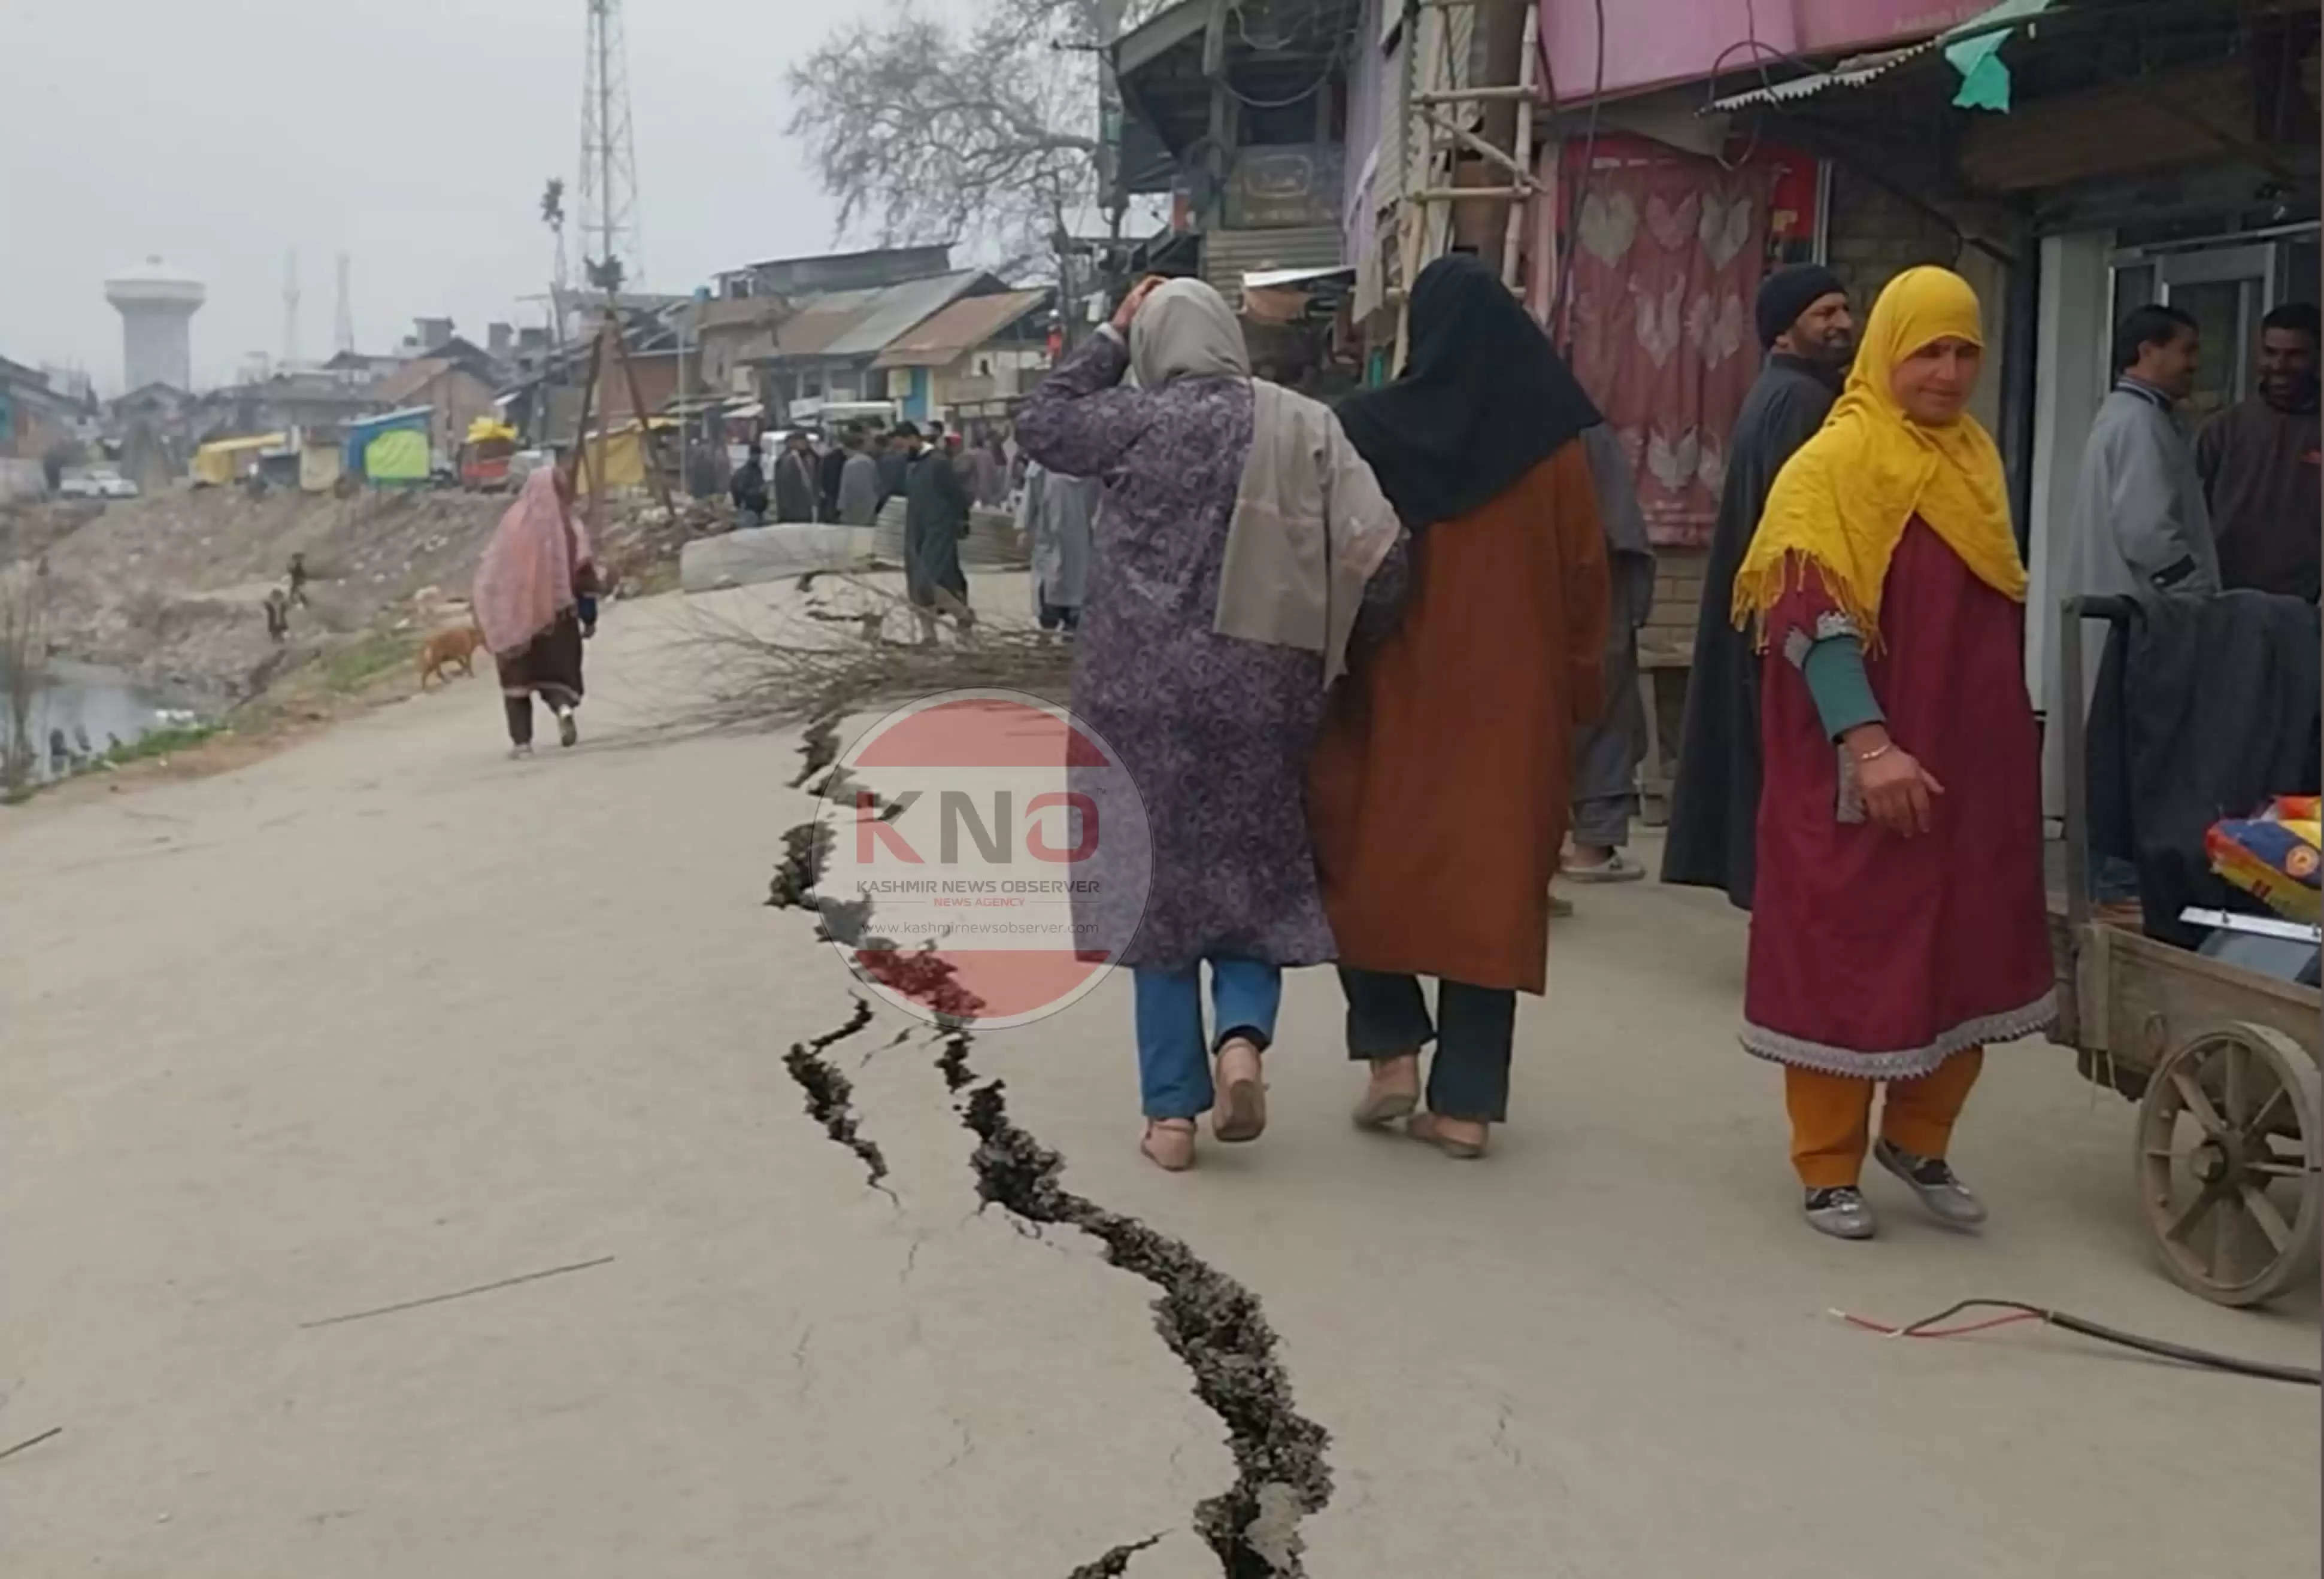
[[[1769,613],[1762,673],[1759,885],[1743,1047],[1831,1075],[1915,1080],[2057,1012],[2040,850],[2040,748],[2024,608],[1978,581],[1917,515],[1866,652],[1899,750],[1945,787],[1934,831],[1864,817],[1855,764],[1799,673],[1855,627],[1813,569]]]

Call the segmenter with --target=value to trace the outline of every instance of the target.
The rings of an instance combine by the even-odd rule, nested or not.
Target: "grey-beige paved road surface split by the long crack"
[[[1062,1579],[1162,1535],[1134,1579],[1218,1572],[1190,1509],[1234,1468],[1150,1289],[974,1212],[932,1050],[834,1050],[892,1198],[802,1117],[781,1054],[848,994],[760,903],[790,741],[632,734],[667,618],[609,615],[574,752],[504,762],[460,683],[0,820],[0,1444],[65,1428],[0,1463],[0,1570]],[[1992,1293],[2312,1363],[2312,1300],[2147,1266],[2126,1105],[2003,1050],[1957,1156],[1992,1231],[1875,1187],[1880,1242],[1817,1240],[1736,917],[1580,903],[1476,1166],[1346,1126],[1325,973],[1274,1131],[1183,1180],[1132,1152],[1125,985],[976,1047],[1074,1189],[1264,1300],[1332,1433],[1308,1574],[2312,1572],[2315,1393],[1827,1317]]]

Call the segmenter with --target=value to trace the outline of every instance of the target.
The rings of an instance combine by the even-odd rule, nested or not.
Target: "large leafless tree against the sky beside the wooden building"
[[[983,0],[969,28],[895,5],[790,70],[839,225],[985,241],[1055,272],[1099,193],[1099,46],[1153,0]]]

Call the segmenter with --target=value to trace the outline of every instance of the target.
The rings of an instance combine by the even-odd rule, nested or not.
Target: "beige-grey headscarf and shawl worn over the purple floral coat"
[[[1250,378],[1243,325],[1202,281],[1178,279],[1146,297],[1129,323],[1129,367],[1148,390],[1176,378],[1250,383],[1250,455],[1211,629],[1320,652],[1332,685],[1348,669],[1364,583],[1401,532],[1371,467],[1329,406]]]

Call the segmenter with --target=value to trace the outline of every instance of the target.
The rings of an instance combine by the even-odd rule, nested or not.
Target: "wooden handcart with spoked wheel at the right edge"
[[[2050,1038],[2075,1050],[2087,1080],[2138,1103],[2131,1161],[2164,1270],[2219,1305],[2259,1305],[2315,1277],[2324,994],[2096,913],[2080,634],[2082,620],[2122,625],[2138,606],[2071,597],[2064,615],[2066,894],[2050,901],[2059,982]]]

